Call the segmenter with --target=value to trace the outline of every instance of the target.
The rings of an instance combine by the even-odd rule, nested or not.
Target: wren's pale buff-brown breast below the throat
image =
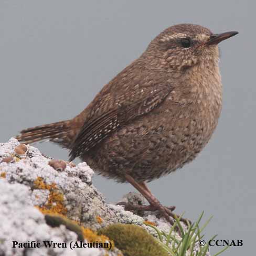
[[[221,106],[219,69],[212,66],[203,70],[199,67],[191,69],[174,86],[162,107],[171,132],[179,133],[180,130],[180,136],[187,134],[185,138],[192,140],[189,143],[192,147],[203,147],[217,126]]]

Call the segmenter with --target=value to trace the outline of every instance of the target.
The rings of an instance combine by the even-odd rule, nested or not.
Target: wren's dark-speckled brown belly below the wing
[[[142,182],[173,172],[196,157],[214,130],[207,129],[200,114],[175,115],[167,111],[160,120],[155,112],[133,121],[83,159],[101,175],[118,182],[125,182],[126,173]]]

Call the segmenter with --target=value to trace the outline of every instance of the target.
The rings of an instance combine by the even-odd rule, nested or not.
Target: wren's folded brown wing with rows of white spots
[[[115,86],[112,89],[113,87]],[[122,88],[123,92],[116,91],[115,97],[110,98],[109,94],[114,92],[103,88],[92,102],[89,119],[84,122],[71,145],[70,161],[89,151],[128,121],[157,108],[172,87],[151,80],[147,86],[142,87],[135,83],[129,89]]]

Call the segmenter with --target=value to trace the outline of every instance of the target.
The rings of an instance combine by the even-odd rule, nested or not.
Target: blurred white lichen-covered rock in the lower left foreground
[[[77,233],[60,225],[52,228],[47,225],[45,216],[35,208],[30,200],[31,191],[22,184],[9,184],[6,179],[0,179],[0,255],[4,256],[94,256],[106,255],[99,248],[46,248],[44,241],[70,244],[77,240]],[[14,241],[40,243],[39,248],[13,248]],[[109,255],[120,255],[120,252],[108,251]]]

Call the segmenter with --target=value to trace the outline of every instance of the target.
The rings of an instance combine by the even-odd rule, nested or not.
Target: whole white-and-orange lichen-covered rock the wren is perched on
[[[17,156],[17,148],[25,152],[22,157]],[[11,157],[12,161],[5,161]],[[138,225],[156,237],[157,233],[144,224],[145,220],[168,232],[169,224],[152,212],[141,217],[125,211],[123,206],[106,204],[92,184],[93,174],[86,163],[76,166],[52,160],[36,147],[19,144],[15,138],[0,143],[0,255],[120,256],[117,248],[12,248],[12,241],[70,244],[78,236],[81,239],[81,234],[84,242],[103,241],[108,238],[94,231],[113,223]],[[143,197],[134,193],[121,201],[145,203]]]

